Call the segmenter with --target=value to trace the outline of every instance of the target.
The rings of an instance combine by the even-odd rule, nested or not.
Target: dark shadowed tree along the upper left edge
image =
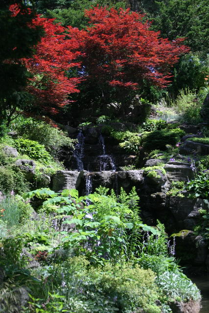
[[[0,124],[11,120],[17,107],[28,105],[29,94],[23,91],[28,72],[20,62],[34,53],[43,29],[31,27],[34,12],[22,0],[0,2]]]

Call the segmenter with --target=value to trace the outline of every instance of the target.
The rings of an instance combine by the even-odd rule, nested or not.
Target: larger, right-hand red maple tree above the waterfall
[[[171,67],[189,51],[182,45],[183,39],[170,42],[160,38],[160,32],[150,30],[151,23],[138,12],[97,6],[86,11],[86,16],[91,24],[86,30],[68,27],[70,38],[79,43],[80,76],[92,88],[111,86],[115,90],[113,101],[122,103],[144,80],[167,86]]]

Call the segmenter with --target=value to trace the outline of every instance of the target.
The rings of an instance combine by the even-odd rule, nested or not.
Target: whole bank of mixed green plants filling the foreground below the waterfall
[[[7,206],[0,218],[2,312],[16,312],[16,307],[24,313],[129,313],[140,309],[169,313],[171,300],[200,298],[196,286],[176,265],[175,249],[168,246],[163,224],[154,228],[141,222],[135,189],[129,194],[121,189],[117,198],[104,187],[85,197],[73,189],[57,194],[42,188],[23,198],[24,209],[13,211],[15,224],[8,220]],[[42,199],[33,220],[28,219],[30,199],[32,204]],[[91,204],[86,204],[87,199]],[[17,218],[20,212],[24,224]],[[12,263],[5,263],[8,253],[13,255]],[[40,266],[26,269],[33,260]],[[176,286],[169,297],[166,293],[172,282],[166,283],[166,275],[173,277]],[[25,286],[30,298],[23,308],[17,290]],[[156,305],[157,300],[161,305]]]

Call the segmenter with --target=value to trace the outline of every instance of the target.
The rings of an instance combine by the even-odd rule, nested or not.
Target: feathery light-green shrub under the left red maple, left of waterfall
[[[25,139],[38,141],[44,145],[46,150],[52,155],[57,156],[64,147],[73,149],[75,140],[70,139],[68,134],[33,118],[23,118],[14,130]]]

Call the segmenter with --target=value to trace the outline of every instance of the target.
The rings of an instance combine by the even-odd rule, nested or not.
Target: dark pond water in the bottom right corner
[[[203,307],[200,313],[209,313],[209,275],[190,277],[190,279],[201,291]]]

